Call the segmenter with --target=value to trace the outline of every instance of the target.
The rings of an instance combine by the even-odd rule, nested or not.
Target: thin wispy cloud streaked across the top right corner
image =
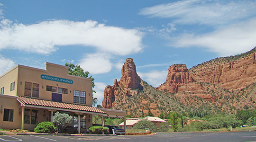
[[[256,15],[255,0],[180,0],[144,8],[141,15],[173,18],[174,23],[222,25]]]

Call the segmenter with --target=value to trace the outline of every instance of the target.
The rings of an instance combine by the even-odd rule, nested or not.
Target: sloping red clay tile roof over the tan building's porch
[[[42,107],[55,107],[55,108],[63,108],[63,109],[70,109],[70,110],[79,110],[79,111],[87,111],[87,112],[106,114],[106,112],[104,112],[96,107],[89,107],[89,106],[69,104],[69,103],[60,103],[60,102],[54,102],[54,101],[49,101],[49,100],[37,99],[37,98],[29,98],[29,97],[23,97],[23,96],[17,96],[17,99],[20,102],[22,102],[25,106],[26,105],[34,105],[34,106],[42,106]]]

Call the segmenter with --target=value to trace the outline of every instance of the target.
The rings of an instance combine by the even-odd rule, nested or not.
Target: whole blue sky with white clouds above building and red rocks
[[[101,104],[131,57],[154,87],[188,68],[256,46],[256,0],[0,0],[0,74],[16,64],[80,64]]]

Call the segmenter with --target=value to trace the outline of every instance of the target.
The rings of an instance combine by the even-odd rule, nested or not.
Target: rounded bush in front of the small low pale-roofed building
[[[140,120],[137,124],[134,125],[134,129],[146,129],[148,128],[151,132],[157,132],[157,126],[148,120]]]

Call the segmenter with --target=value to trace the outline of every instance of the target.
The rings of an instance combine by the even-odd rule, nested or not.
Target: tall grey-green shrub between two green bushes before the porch
[[[63,133],[65,127],[68,124],[71,124],[72,122],[73,122],[73,117],[68,114],[56,112],[54,115],[54,123],[56,124],[57,128],[60,130],[60,133]]]

